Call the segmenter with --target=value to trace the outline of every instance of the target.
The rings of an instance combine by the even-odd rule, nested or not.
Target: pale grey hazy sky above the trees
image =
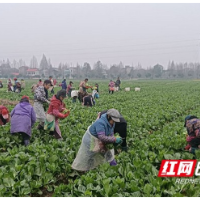
[[[199,11],[199,2],[1,2],[0,60],[200,62]]]

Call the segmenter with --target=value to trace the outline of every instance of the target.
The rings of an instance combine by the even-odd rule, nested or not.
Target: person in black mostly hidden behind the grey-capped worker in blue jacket
[[[103,114],[105,114],[106,112],[107,112],[107,110],[100,112],[98,114],[97,119],[101,118],[101,116]],[[128,151],[127,141],[126,141],[126,138],[127,138],[127,122],[122,115],[120,116],[120,122],[115,123],[114,134],[116,134],[116,133],[119,133],[120,137],[122,138],[122,143],[121,143],[122,151],[127,152]]]

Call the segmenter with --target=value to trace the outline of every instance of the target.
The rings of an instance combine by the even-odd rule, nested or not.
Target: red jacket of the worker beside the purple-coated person
[[[51,99],[51,103],[49,105],[49,109],[47,111],[48,114],[54,115],[56,119],[63,119],[69,116],[69,112],[66,114],[63,114],[63,110],[66,109],[65,104],[56,98],[56,95],[54,95]]]

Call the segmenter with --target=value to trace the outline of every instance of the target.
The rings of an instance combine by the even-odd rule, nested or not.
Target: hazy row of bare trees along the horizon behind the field
[[[14,60],[12,63],[7,59],[0,60],[0,77],[12,77],[13,73],[19,72],[20,67],[27,66],[25,61],[20,59]],[[29,63],[29,68],[35,68],[41,71],[40,77],[43,78],[43,71],[47,70],[56,78],[96,78],[96,79],[116,79],[121,77],[123,79],[199,79],[200,78],[200,63],[175,63],[170,61],[168,66],[164,67],[160,64],[155,66],[148,66],[143,68],[141,64],[137,66],[124,65],[122,62],[107,66],[101,61],[97,61],[91,66],[88,62],[83,65],[76,64],[73,66],[69,63],[60,63],[57,67],[53,67],[51,60],[43,55],[40,63],[37,58],[33,56]],[[68,73],[67,73],[68,70]],[[39,77],[38,77],[39,78]]]

